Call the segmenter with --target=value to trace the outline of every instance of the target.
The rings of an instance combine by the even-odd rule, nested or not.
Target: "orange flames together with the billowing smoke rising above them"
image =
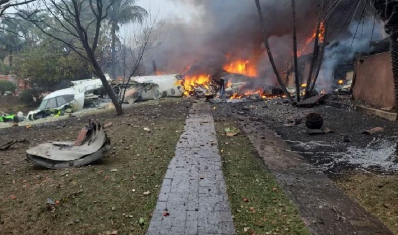
[[[186,90],[185,95],[193,95],[196,92],[212,93],[211,88],[214,86],[225,91],[225,93],[221,91],[221,95],[232,99],[253,94],[262,97],[272,95],[268,94],[265,87],[278,86],[278,83],[263,45],[254,1],[184,0],[184,2],[201,11],[197,16],[199,18],[190,22],[167,20],[160,24],[159,30],[164,38],[159,49],[148,51],[145,55],[144,61],[148,61],[145,65],[147,73],[158,73],[151,71],[155,60],[156,69],[162,71],[162,74],[181,74],[184,79],[182,85]],[[319,19],[318,3],[317,0],[308,0],[300,4],[297,9],[301,84],[306,83],[312,58]],[[291,63],[292,9],[289,4],[282,4],[278,0],[262,0],[261,5],[276,65],[286,84],[292,86],[291,81],[294,81],[295,76]],[[362,15],[355,10],[362,5],[357,6],[352,1],[336,3],[330,0],[325,1],[324,7],[335,10],[320,22],[319,44],[330,43],[325,49],[324,64],[318,81],[321,90],[332,90],[335,83],[333,73],[340,65],[341,58],[353,60],[355,54],[368,45],[361,39],[366,38],[370,41],[369,27],[373,25],[373,19],[363,19],[361,37],[359,37],[356,27]],[[364,7],[368,9],[368,5]],[[366,11],[364,15],[368,17],[374,13]],[[350,19],[351,23],[347,23],[346,19]],[[326,27],[329,30],[325,37]],[[379,28],[373,30],[374,39],[378,39],[376,34],[379,31],[382,30]],[[355,40],[358,41],[351,43],[353,37],[354,39],[357,37]],[[350,44],[354,46],[349,46]]]

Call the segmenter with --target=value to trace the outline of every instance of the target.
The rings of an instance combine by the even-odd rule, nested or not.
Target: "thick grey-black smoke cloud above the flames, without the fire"
[[[167,20],[160,25],[162,44],[148,52],[146,72],[152,72],[152,60],[166,73],[215,74],[236,59],[249,59],[259,77],[275,84],[264,50],[259,16],[254,0],[174,0],[191,4],[201,12],[190,22]],[[280,73],[291,66],[293,56],[293,13],[289,0],[260,0],[271,51]],[[298,48],[315,30],[319,0],[297,0]],[[336,11],[342,11],[345,5]],[[338,15],[338,14],[336,14]],[[336,17],[335,17],[336,18]],[[338,18],[338,17],[337,17]],[[344,27],[344,26],[342,26]],[[347,25],[345,26],[347,27]],[[349,32],[348,32],[349,33]],[[343,33],[344,34],[344,33]],[[313,46],[305,50],[311,53]]]

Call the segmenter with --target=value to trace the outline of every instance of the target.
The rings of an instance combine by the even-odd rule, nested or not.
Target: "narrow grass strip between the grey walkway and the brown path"
[[[229,201],[237,234],[307,235],[297,209],[274,176],[265,169],[247,137],[222,131],[237,125],[216,122]]]

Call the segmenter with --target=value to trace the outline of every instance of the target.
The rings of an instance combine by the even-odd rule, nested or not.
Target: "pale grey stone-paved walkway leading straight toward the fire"
[[[190,110],[147,232],[183,234],[235,234],[209,104]]]

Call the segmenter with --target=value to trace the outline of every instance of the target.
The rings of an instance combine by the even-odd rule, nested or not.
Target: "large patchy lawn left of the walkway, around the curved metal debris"
[[[172,100],[125,109],[121,117],[91,116],[113,122],[106,132],[115,148],[100,162],[65,170],[35,167],[24,151],[46,140],[74,139],[90,117],[2,129],[0,143],[30,141],[1,152],[2,234],[145,234],[189,108]],[[54,211],[43,209],[47,198],[59,201]]]

